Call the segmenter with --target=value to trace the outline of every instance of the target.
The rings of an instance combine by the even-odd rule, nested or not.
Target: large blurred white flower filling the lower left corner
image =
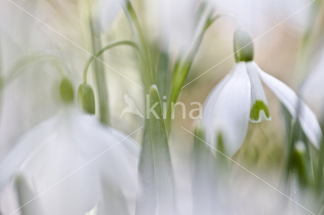
[[[132,138],[64,107],[2,160],[0,189],[14,180],[20,204],[39,195],[21,208],[24,214],[128,214],[135,207],[138,155]]]

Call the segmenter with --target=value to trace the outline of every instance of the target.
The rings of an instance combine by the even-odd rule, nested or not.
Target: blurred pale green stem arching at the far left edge
[[[19,77],[20,73],[22,72],[22,68],[25,67],[28,64],[34,63],[34,62],[39,62],[43,61],[45,62],[50,62],[53,64],[53,66],[56,67],[58,72],[60,73],[61,76],[64,76],[64,72],[62,69],[62,65],[64,66],[65,70],[67,70],[67,66],[65,64],[62,64],[60,60],[54,56],[54,55],[33,55],[33,56],[28,56],[20,61],[18,61],[10,70],[9,70],[9,75],[7,78],[4,79],[4,86],[9,84],[11,81],[13,81],[15,78]]]

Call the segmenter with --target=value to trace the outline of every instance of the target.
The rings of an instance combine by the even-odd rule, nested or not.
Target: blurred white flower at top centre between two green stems
[[[202,4],[205,2],[196,0],[156,2],[158,39],[162,49],[184,53],[190,50],[211,12],[209,7],[203,9]],[[199,7],[203,9],[201,14],[198,13]]]

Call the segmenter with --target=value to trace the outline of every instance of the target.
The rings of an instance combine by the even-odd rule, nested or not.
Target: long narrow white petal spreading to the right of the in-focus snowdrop
[[[259,73],[262,81],[272,90],[282,104],[286,106],[290,114],[296,118],[297,106],[299,102],[299,98],[296,93],[285,83],[263,72],[260,68]],[[312,110],[310,110],[303,100],[300,101],[299,121],[310,142],[316,148],[319,148],[322,132],[315,114]]]

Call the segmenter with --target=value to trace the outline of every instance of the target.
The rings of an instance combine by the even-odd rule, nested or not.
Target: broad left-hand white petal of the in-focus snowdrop
[[[231,73],[222,83],[219,95],[216,87],[213,97],[208,97],[205,108],[208,111],[202,119],[207,129],[207,141],[216,146],[217,135],[221,133],[227,155],[234,154],[244,142],[251,108],[251,84],[245,62],[236,64]],[[213,112],[210,106],[214,108]],[[204,122],[209,122],[209,118],[210,125]]]

